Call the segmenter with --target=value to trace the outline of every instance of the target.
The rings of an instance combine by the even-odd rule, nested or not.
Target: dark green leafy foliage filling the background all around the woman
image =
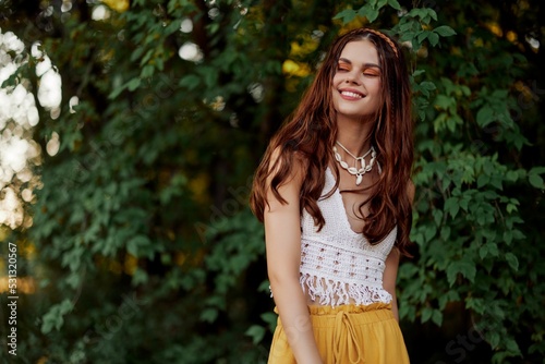
[[[398,298],[402,324],[419,325],[405,338],[432,323],[447,341],[479,332],[491,349],[474,362],[545,354],[543,77],[533,51],[508,40],[526,35],[501,23],[514,15],[493,2],[170,0],[93,20],[97,3],[40,3],[51,12],[12,4],[5,16],[28,62],[2,85],[36,92],[35,40],[63,81],[60,116],[41,108],[34,130],[33,226],[10,235],[36,252],[21,255],[36,286],[21,301],[25,360],[266,362],[276,314],[252,173],[332,37],[368,23],[403,43],[411,68],[414,258]],[[431,351],[420,344],[415,357]],[[413,361],[456,360],[433,349]]]

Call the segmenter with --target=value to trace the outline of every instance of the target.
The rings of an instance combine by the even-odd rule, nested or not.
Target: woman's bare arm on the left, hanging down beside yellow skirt
[[[299,198],[303,182],[301,166],[293,166],[278,192],[286,199],[280,203],[270,190],[267,193],[269,206],[265,208],[265,243],[267,270],[275,303],[282,321],[288,343],[298,364],[320,364],[313,335],[306,296],[299,281],[301,262],[301,217]],[[270,185],[270,179],[269,179]],[[270,355],[275,355],[274,352]]]

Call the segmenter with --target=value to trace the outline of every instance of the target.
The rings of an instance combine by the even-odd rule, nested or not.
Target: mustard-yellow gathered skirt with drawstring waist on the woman
[[[390,304],[310,306],[308,310],[324,364],[409,363],[403,336]],[[280,317],[268,364],[296,364]]]

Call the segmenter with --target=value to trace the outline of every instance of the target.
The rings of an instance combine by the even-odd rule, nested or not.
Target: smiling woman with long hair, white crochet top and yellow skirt
[[[370,28],[339,37],[254,180],[279,314],[269,363],[409,363],[396,278],[412,148],[400,47]]]

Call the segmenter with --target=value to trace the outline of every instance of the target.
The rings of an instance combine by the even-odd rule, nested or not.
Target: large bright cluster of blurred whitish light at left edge
[[[23,207],[32,203],[34,189],[39,184],[33,173],[41,155],[40,146],[33,141],[33,129],[40,119],[36,99],[51,117],[60,113],[62,101],[61,76],[40,47],[35,43],[28,52],[12,32],[0,29],[0,226],[11,229],[32,226]],[[29,66],[31,57],[36,61],[36,95],[21,72]],[[59,139],[57,135],[55,141]],[[59,146],[52,142],[51,150],[55,149],[57,153]]]

